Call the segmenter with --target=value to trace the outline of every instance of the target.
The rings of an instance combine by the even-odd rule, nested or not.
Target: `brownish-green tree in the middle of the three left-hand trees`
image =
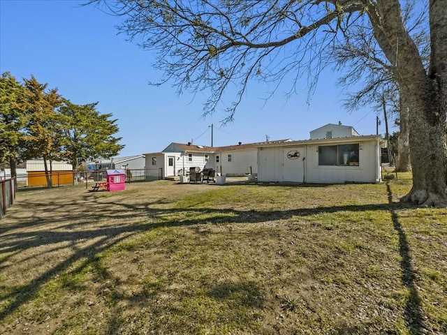
[[[28,157],[43,158],[47,186],[52,186],[52,161],[60,151],[56,109],[62,103],[57,89],[47,91],[34,76],[24,79],[25,108],[27,112],[26,146]],[[47,162],[50,162],[48,167]]]

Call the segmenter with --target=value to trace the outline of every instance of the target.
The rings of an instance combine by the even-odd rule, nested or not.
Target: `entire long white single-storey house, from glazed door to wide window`
[[[277,140],[206,147],[171,143],[145,154],[146,169],[177,177],[190,168],[212,168],[227,176],[258,175],[258,181],[345,183],[381,181],[381,136],[360,136],[351,126],[327,124],[310,132],[310,140]]]

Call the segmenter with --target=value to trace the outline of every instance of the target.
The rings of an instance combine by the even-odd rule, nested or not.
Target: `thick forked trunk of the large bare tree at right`
[[[393,64],[400,94],[409,106],[409,144],[413,188],[402,202],[447,207],[447,6],[430,0],[431,52],[427,74],[406,31],[398,0],[377,0],[370,12],[374,34]]]

